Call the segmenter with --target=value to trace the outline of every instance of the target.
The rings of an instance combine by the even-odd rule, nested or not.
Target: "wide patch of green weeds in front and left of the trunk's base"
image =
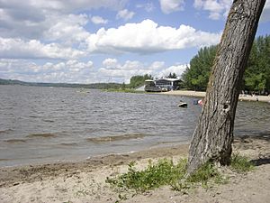
[[[157,164],[149,162],[143,171],[137,171],[135,162],[129,164],[129,170],[118,177],[108,178],[106,182],[121,191],[134,190],[136,193],[155,189],[163,185],[170,185],[172,189],[183,191],[190,189],[193,184],[201,183],[207,186],[210,180],[224,183],[224,178],[211,162],[186,178],[186,160],[174,164],[171,160],[159,160]]]

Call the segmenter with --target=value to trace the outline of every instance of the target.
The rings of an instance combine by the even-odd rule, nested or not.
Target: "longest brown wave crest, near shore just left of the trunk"
[[[114,136],[91,137],[86,138],[86,140],[91,143],[107,143],[121,140],[139,139],[146,136],[149,136],[149,134],[121,134]]]

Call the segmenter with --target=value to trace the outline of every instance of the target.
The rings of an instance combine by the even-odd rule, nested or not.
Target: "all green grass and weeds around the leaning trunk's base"
[[[127,198],[127,193],[142,193],[150,189],[156,189],[164,185],[169,185],[172,189],[188,192],[196,185],[211,187],[213,184],[224,184],[228,178],[212,163],[207,162],[195,171],[192,175],[186,175],[186,159],[177,163],[172,160],[161,159],[153,164],[149,161],[146,169],[138,171],[135,161],[130,162],[128,171],[115,177],[107,177],[106,182],[110,183],[119,194],[119,201]],[[230,169],[238,173],[251,171],[254,166],[248,161],[247,157],[240,156],[238,153],[231,157]],[[210,184],[211,183],[211,184]]]

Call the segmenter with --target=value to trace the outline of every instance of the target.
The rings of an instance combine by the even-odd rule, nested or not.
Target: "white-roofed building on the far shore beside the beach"
[[[162,92],[179,89],[178,78],[157,78],[145,80],[145,91],[147,92]]]

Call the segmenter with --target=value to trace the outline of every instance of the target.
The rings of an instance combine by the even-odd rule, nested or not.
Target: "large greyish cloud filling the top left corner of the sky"
[[[120,11],[128,0],[0,0],[0,36],[41,39],[43,33],[70,18],[69,14],[98,8]],[[78,15],[76,15],[78,16]],[[69,19],[70,20],[70,19]]]

